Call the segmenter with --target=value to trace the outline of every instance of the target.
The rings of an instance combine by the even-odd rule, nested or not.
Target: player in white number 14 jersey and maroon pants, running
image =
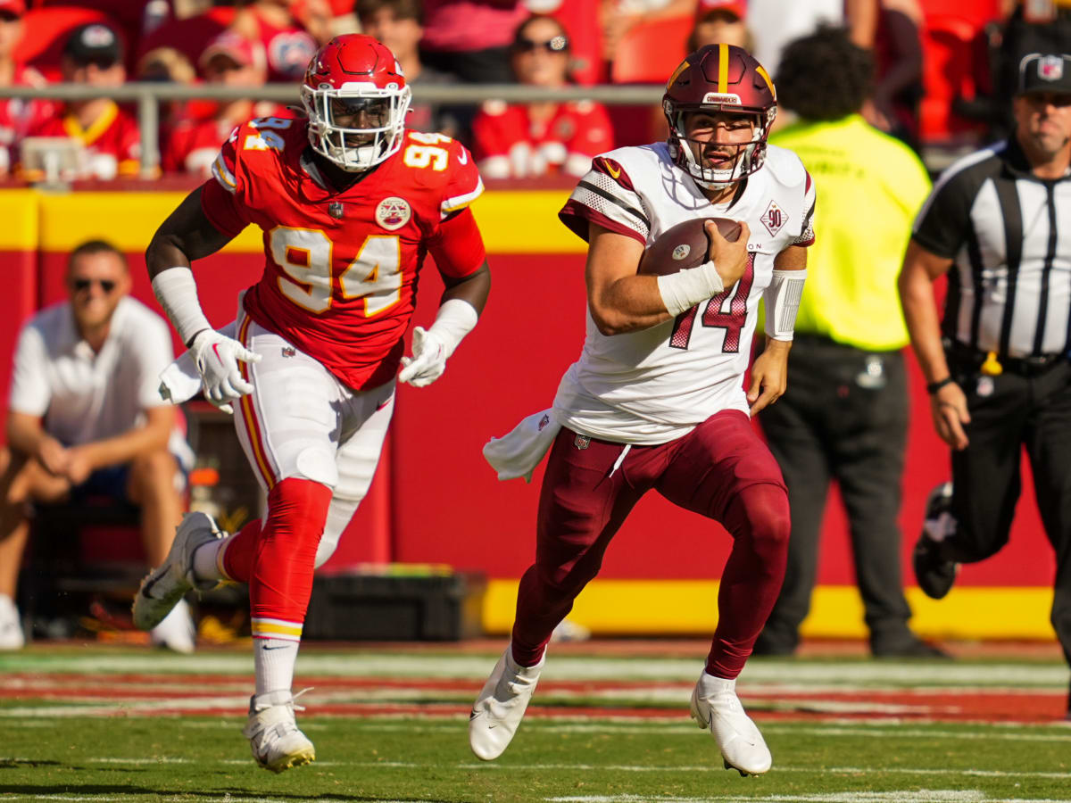
[[[767,146],[773,84],[742,48],[691,54],[670,76],[663,108],[668,141],[598,156],[561,211],[588,242],[580,359],[553,410],[484,450],[503,479],[530,471],[547,448],[550,456],[536,562],[521,579],[512,640],[469,718],[469,744],[483,759],[509,745],[552,632],[599,572],[633,505],[654,489],[733,536],[692,716],[710,730],[726,768],[756,774],[772,763],[737,699],[736,678],[784,579],[788,497],[750,415],[785,391],[805,246],[814,239],[814,188],[795,155]],[[739,238],[729,242],[707,223],[707,262],[669,275],[637,273],[645,246],[705,217],[738,221]],[[760,297],[767,348],[745,393]]]

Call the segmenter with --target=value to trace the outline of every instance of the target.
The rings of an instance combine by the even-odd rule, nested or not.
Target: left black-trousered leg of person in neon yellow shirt
[[[802,344],[801,344],[802,345]],[[799,645],[799,627],[811,610],[811,593],[818,571],[821,518],[829,493],[829,434],[821,429],[829,391],[823,383],[821,361],[804,363],[806,370],[794,373],[788,361],[788,384],[793,393],[763,410],[759,423],[770,451],[784,475],[791,510],[791,536],[785,581],[761,634],[755,641],[760,655],[790,655]],[[797,393],[798,389],[803,392]]]

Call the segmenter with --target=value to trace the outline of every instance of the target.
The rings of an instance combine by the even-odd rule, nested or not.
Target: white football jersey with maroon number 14
[[[748,412],[748,368],[758,302],[773,260],[814,241],[814,186],[791,151],[769,146],[764,166],[733,203],[712,204],[665,143],[597,156],[561,210],[585,240],[588,223],[650,245],[693,217],[730,217],[751,229],[743,277],[676,319],[604,335],[587,314],[584,350],[561,379],[554,409],[564,426],[621,443],[680,438],[721,410]]]

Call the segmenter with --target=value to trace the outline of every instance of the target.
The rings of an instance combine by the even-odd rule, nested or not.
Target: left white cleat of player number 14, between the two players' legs
[[[536,666],[517,666],[506,648],[469,714],[469,746],[479,758],[498,758],[510,746],[545,663],[544,653]]]

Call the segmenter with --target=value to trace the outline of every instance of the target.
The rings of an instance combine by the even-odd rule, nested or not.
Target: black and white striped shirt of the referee
[[[953,260],[946,337],[1012,358],[1071,346],[1071,175],[1037,178],[1012,137],[945,171],[914,238]]]

